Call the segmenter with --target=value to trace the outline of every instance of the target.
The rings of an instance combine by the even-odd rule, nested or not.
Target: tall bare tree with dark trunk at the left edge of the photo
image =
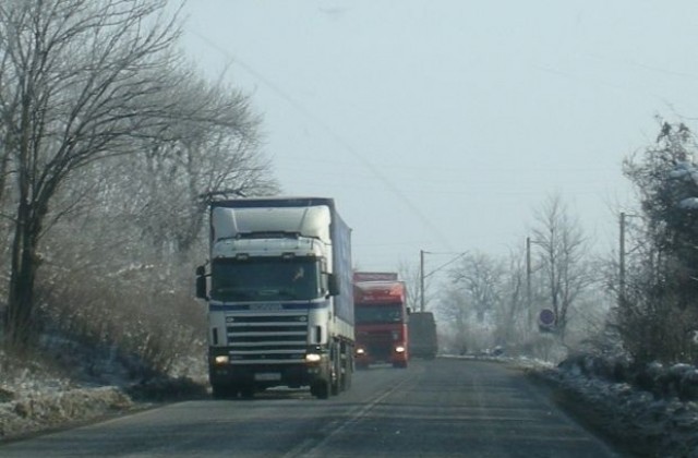
[[[0,4],[0,119],[16,209],[5,339],[31,337],[38,244],[53,196],[75,170],[133,153],[171,122],[167,88],[179,28],[166,0]],[[173,111],[177,112],[176,110]]]

